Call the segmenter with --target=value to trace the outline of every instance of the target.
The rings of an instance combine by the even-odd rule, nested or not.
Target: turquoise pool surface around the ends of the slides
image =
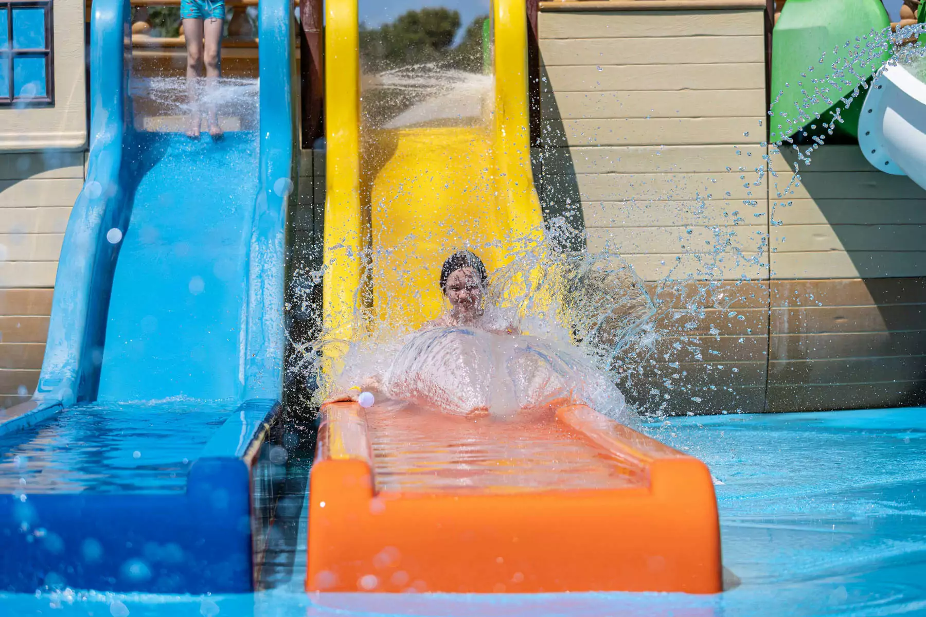
[[[297,561],[289,580],[257,594],[204,598],[39,590],[0,594],[0,614],[926,614],[926,408],[686,417],[649,426],[647,432],[709,465],[718,483],[723,562],[739,585],[714,596],[313,597],[299,590]],[[300,542],[301,552],[304,536]]]

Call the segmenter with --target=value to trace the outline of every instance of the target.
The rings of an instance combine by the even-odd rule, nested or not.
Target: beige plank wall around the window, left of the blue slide
[[[87,142],[84,6],[54,10],[55,104],[0,109],[0,408],[35,389]]]

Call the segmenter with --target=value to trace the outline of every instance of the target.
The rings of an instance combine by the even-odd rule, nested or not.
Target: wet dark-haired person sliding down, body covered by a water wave
[[[326,402],[357,401],[369,390],[470,417],[581,402],[626,422],[630,412],[619,389],[581,352],[493,323],[484,305],[487,281],[474,253],[451,255],[440,281],[450,308],[410,334],[380,374],[345,371]]]

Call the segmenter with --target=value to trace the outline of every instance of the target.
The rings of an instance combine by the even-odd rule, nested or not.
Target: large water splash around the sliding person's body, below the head
[[[373,280],[385,257],[365,255]],[[364,301],[357,294],[354,331],[362,337],[348,343],[322,335],[303,348],[293,370],[321,379],[319,398],[375,376],[391,397],[458,415],[508,416],[576,401],[629,421],[615,387],[621,351],[646,344],[655,314],[642,281],[619,256],[558,251],[551,241],[523,248],[493,273],[477,327],[416,330],[374,317],[401,307],[372,311]],[[317,353],[332,347],[346,350],[340,366]]]

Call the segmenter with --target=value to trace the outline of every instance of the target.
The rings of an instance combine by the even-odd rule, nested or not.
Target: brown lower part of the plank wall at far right
[[[769,410],[908,404],[926,391],[926,278],[771,281]]]

